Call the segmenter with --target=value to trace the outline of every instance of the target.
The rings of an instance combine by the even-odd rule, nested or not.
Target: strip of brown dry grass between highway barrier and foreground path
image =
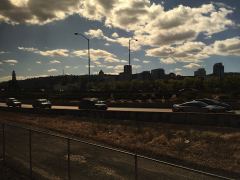
[[[14,121],[88,138],[116,147],[170,157],[201,166],[240,173],[240,131],[162,123],[96,120],[0,112]]]

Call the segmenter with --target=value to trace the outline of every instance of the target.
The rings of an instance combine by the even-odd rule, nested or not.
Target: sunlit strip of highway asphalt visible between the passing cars
[[[6,107],[5,103],[0,103],[1,107]],[[30,104],[22,104],[22,108],[32,108]],[[77,110],[77,106],[52,106],[53,109]],[[139,112],[172,112],[172,109],[158,108],[126,108],[126,107],[108,107],[108,111],[139,111]]]

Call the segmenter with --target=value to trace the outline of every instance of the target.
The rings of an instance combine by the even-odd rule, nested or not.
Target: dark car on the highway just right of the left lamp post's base
[[[79,109],[107,110],[105,101],[99,101],[96,98],[85,98],[79,102]]]

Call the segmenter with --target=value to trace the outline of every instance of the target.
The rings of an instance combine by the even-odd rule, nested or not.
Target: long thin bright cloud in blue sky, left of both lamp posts
[[[67,49],[54,49],[54,50],[46,50],[42,51],[37,48],[26,48],[26,47],[18,47],[19,50],[26,51],[26,52],[33,52],[35,54],[40,54],[42,56],[49,56],[49,57],[68,57],[69,56],[69,50]]]

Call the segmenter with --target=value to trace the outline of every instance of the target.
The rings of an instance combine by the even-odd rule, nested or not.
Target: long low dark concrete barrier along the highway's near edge
[[[240,128],[240,115],[218,113],[134,112],[96,111],[68,109],[31,109],[0,107],[0,111],[31,114],[71,115],[99,119],[134,120],[140,122],[162,122],[173,124],[206,125]]]

